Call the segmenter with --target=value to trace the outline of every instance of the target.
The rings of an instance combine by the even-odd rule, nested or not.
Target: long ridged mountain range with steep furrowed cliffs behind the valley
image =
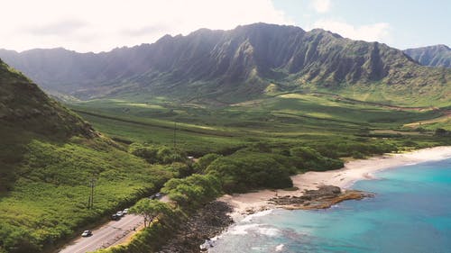
[[[267,23],[165,35],[152,44],[97,54],[61,48],[0,50],[0,58],[43,89],[80,99],[166,96],[235,102],[269,89],[339,90],[374,84],[400,94],[447,99],[451,80],[450,69],[420,66],[382,43]]]

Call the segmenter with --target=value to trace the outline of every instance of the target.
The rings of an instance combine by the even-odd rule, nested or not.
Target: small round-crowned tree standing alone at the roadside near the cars
[[[167,203],[162,203],[159,200],[142,199],[133,205],[130,212],[143,216],[144,227],[149,227],[153,219],[169,213],[170,207]]]

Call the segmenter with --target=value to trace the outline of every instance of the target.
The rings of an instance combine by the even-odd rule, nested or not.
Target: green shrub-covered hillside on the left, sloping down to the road
[[[170,177],[0,61],[0,252],[41,252]],[[89,182],[96,179],[93,209]]]

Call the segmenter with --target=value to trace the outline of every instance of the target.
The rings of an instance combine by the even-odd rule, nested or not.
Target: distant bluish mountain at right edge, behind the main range
[[[451,68],[451,49],[446,45],[409,49],[404,52],[421,65]]]

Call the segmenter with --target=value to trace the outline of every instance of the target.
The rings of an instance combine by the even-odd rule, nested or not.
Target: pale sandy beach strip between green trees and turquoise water
[[[329,171],[308,171],[291,176],[297,190],[262,190],[254,193],[223,195],[217,200],[229,204],[233,212],[229,215],[237,222],[248,214],[289,206],[271,203],[274,197],[300,197],[306,190],[317,190],[321,185],[334,185],[350,190],[355,182],[377,179],[374,173],[393,167],[403,167],[428,161],[451,158],[451,146],[417,149],[407,153],[387,153],[382,156],[357,159],[345,163],[345,167]]]

